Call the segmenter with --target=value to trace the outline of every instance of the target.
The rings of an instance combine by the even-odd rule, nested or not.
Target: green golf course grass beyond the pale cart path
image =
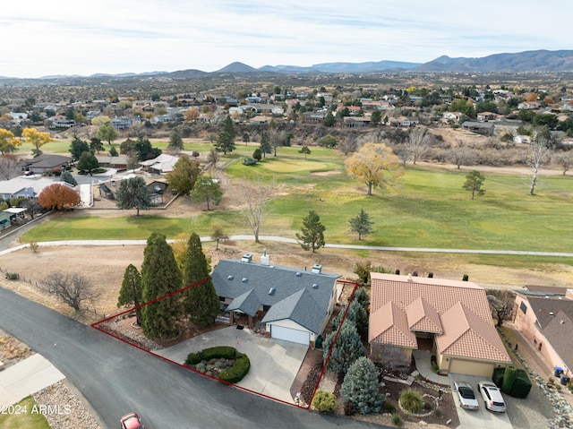
[[[571,251],[573,178],[569,176],[543,177],[538,194],[530,196],[528,177],[486,175],[486,193],[472,201],[461,187],[465,173],[442,169],[408,166],[397,184],[375,190],[371,197],[365,195],[364,184],[346,176],[340,158],[269,157],[253,167],[237,159],[226,171],[234,181],[254,176],[275,181],[279,196],[270,203],[261,235],[294,237],[308,210],[316,210],[328,243]],[[371,216],[374,232],[359,243],[348,230],[348,219],[361,208]],[[208,235],[212,219],[227,234],[251,234],[241,215],[232,211],[213,210],[186,219],[150,216],[153,211],[142,212],[138,219],[127,213],[115,219],[63,217],[33,228],[22,240],[144,239],[153,231],[167,237],[192,230]]]

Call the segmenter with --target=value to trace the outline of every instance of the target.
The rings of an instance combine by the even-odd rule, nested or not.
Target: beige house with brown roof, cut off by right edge
[[[573,378],[573,289],[526,286],[517,291],[514,323],[554,367]]]

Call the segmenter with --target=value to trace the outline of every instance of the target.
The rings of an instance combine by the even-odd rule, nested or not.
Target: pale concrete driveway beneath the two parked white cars
[[[482,394],[477,390],[477,383],[486,380],[483,377],[476,377],[475,375],[466,375],[461,373],[450,373],[448,375],[454,402],[458,409],[459,427],[464,429],[512,429],[513,426],[509,422],[508,413],[493,413],[485,408],[483,404]],[[476,410],[467,410],[459,407],[458,392],[454,391],[454,382],[465,381],[471,384],[475,391],[475,397],[480,403],[480,408]],[[505,398],[505,397],[504,397]]]

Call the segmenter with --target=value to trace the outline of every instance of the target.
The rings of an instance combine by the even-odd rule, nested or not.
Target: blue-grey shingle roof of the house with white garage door
[[[227,309],[253,315],[261,305],[268,305],[263,322],[290,319],[317,334],[338,277],[239,260],[219,261],[212,274],[217,295],[233,300]]]

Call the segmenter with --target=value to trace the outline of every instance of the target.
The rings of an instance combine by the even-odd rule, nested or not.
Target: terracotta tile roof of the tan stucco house
[[[410,347],[396,333],[373,335],[379,330],[391,332],[392,327],[403,332],[406,317],[406,329],[412,335],[415,336],[415,331],[436,334],[440,354],[510,362],[493,325],[490,306],[482,287],[467,281],[374,272],[371,278],[371,341]],[[389,312],[389,309],[392,311]],[[381,312],[385,314],[379,315]],[[413,348],[417,348],[417,343]]]

